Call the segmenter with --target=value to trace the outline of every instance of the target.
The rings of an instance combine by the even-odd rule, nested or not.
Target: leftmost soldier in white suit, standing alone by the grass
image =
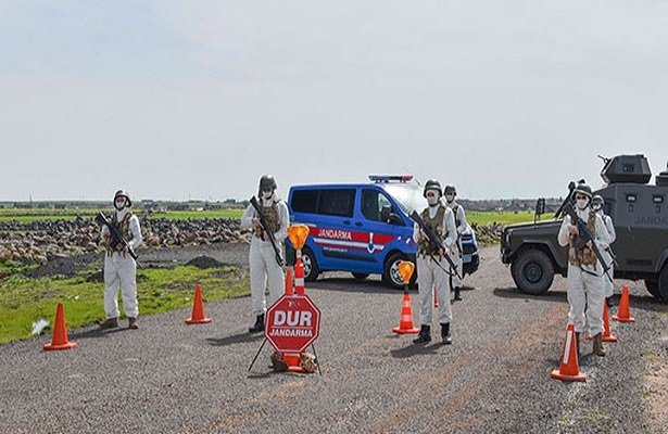
[[[130,207],[133,202],[130,195],[125,190],[116,191],[114,194],[114,208],[116,209],[111,218],[128,246],[117,243],[111,235],[106,226],[102,227],[102,241],[106,245],[104,255],[104,312],[106,320],[100,324],[102,329],[114,329],[118,327],[118,288],[123,297],[123,310],[128,318],[128,328],[137,329],[137,317],[139,307],[137,303],[137,261],[128,253],[141,244],[141,228],[139,219],[133,214]]]

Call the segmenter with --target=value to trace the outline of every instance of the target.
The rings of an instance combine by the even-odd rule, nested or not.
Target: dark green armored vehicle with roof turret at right
[[[617,240],[612,250],[615,279],[643,279],[647,291],[668,302],[668,168],[655,177],[644,155],[603,158],[604,213],[613,218]],[[571,186],[575,184],[571,182]],[[537,214],[544,207],[539,199]],[[557,212],[558,214],[558,212]],[[550,290],[555,273],[566,277],[568,248],[559,246],[562,219],[507,226],[501,239],[502,261],[511,266],[517,288],[527,294]]]

